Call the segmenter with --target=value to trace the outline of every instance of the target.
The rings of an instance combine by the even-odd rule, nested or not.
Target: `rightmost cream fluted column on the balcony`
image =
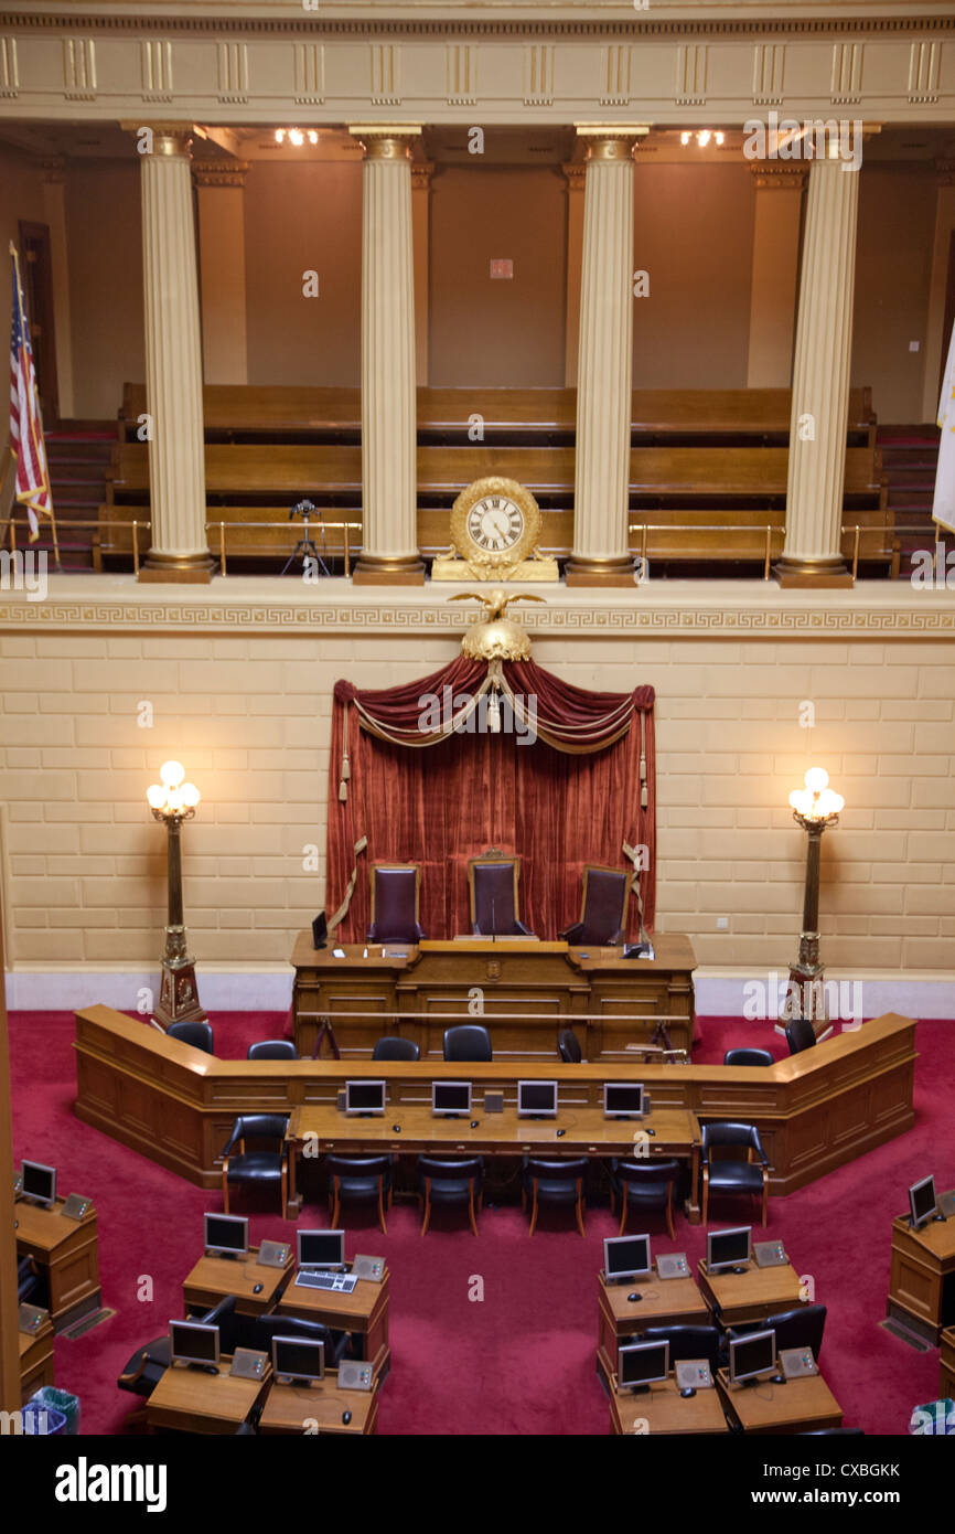
[[[780,586],[851,586],[842,557],[858,170],[809,169]]]

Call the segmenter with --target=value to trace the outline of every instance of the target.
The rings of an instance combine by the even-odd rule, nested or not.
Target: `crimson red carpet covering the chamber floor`
[[[219,1014],[216,1052],[244,1057],[253,1039],[279,1037],[281,1014]],[[722,1060],[754,1040],[753,1025],[702,1022],[694,1060]],[[57,1341],[57,1384],[80,1396],[84,1433],[118,1433],[136,1399],[117,1390],[129,1355],[181,1315],[181,1282],[202,1241],[202,1212],[221,1200],[124,1149],[72,1115],[74,1020],[66,1012],[11,1016],[14,1154],[52,1163],[63,1192],[87,1193],[98,1212],[103,1302],[117,1315],[77,1342]],[[785,1043],[773,1043],[785,1054]],[[906,1433],[914,1405],[938,1394],[938,1350],[915,1353],[889,1336],[884,1318],[892,1216],[906,1189],[935,1172],[955,1186],[950,1103],[955,1023],[918,1025],[915,1127],[791,1198],[770,1201],[768,1236],[782,1236],[800,1273],[829,1307],[823,1373],[848,1427]],[[251,1236],[287,1238],[277,1213],[253,1213]],[[392,1371],[382,1391],[380,1431],[415,1434],[607,1433],[610,1414],[595,1374],[596,1273],[602,1238],[616,1233],[607,1207],[587,1215],[587,1238],[563,1210],[546,1212],[530,1239],[518,1207],[487,1209],[475,1239],[457,1210],[438,1210],[418,1236],[411,1204],[395,1204],[389,1233],[359,1207],[346,1221],[348,1255],[383,1253],[391,1267]],[[750,1220],[740,1201],[716,1206],[717,1224]],[[302,1224],[327,1224],[305,1207]],[[636,1227],[635,1227],[636,1229]],[[653,1224],[655,1252],[704,1255],[701,1226],[678,1218],[676,1243]],[[661,1233],[662,1230],[662,1233]],[[475,1279],[483,1301],[469,1299]]]

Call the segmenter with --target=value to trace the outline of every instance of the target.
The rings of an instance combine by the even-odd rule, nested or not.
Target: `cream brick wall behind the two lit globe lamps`
[[[242,586],[221,584],[230,598]],[[756,597],[786,600],[774,588]],[[434,611],[443,600],[426,598]],[[855,600],[840,594],[843,611]],[[619,597],[607,601],[621,606]],[[169,756],[202,790],[184,831],[187,922],[201,962],[281,965],[322,907],[333,684],[426,675],[455,655],[457,637],[429,632],[425,620],[412,632],[399,624],[342,637],[282,632],[276,620],[273,632],[250,634],[238,614],[228,620],[224,607],[230,632],[193,634],[136,632],[133,620],[118,624],[123,632],[90,632],[95,618],[25,632],[41,626],[35,614],[23,623],[0,614],[14,966],[155,965],[164,836],[144,793]],[[805,836],[786,801],[806,767],[823,764],[846,798],[842,824],[823,839],[826,960],[848,971],[955,968],[949,640],[682,637],[662,623],[589,638],[549,632],[544,614],[535,623],[535,658],[566,680],[656,689],[659,928],[690,933],[702,965],[765,971],[794,954]],[[143,703],[153,707],[152,729],[138,726]],[[799,723],[806,703],[814,729]],[[308,844],[319,848],[317,873],[302,868]]]

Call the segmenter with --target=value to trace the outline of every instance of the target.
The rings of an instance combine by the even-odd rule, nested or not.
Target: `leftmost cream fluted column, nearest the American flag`
[[[139,129],[138,133],[143,130]],[[139,140],[141,143],[141,140]],[[190,133],[158,124],[141,153],[152,549],[143,581],[208,581],[202,350]]]

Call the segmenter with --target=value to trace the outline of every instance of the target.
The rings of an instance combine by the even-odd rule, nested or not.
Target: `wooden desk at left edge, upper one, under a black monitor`
[[[69,1220],[63,1204],[58,1198],[52,1209],[40,1209],[18,1198],[14,1206],[17,1256],[32,1256],[46,1272],[54,1332],[98,1310],[101,1302],[97,1210],[89,1209],[83,1220]]]

